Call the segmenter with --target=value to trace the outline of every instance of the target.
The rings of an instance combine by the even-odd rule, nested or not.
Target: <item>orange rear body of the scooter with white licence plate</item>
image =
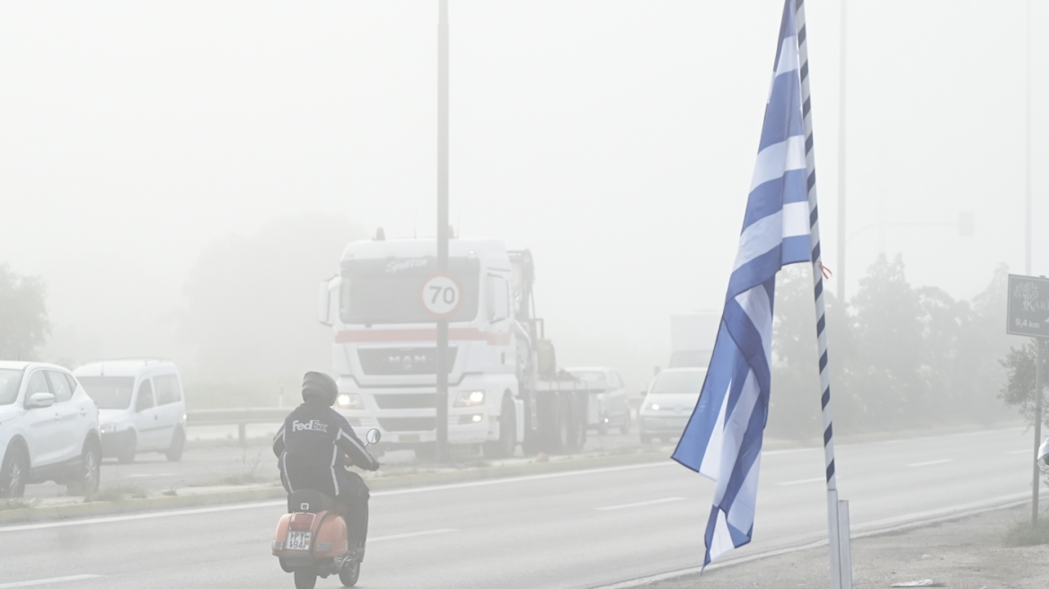
[[[286,514],[273,537],[273,554],[288,567],[309,566],[345,554],[347,538],[345,520],[333,509]]]

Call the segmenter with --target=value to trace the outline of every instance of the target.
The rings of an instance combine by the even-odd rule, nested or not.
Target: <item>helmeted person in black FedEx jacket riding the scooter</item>
[[[368,487],[357,473],[343,466],[348,457],[354,465],[378,471],[379,462],[364,449],[346,418],[331,409],[339,391],[323,372],[306,372],[302,378],[302,405],[284,419],[273,439],[280,480],[284,489],[312,488],[346,506],[349,547],[364,558],[368,533]]]

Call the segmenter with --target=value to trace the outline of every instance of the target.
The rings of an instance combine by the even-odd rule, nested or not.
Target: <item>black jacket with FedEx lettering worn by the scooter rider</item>
[[[343,455],[358,467],[379,467],[346,418],[322,403],[304,402],[295,408],[273,439],[273,453],[288,490],[305,487],[340,495],[346,481],[340,476],[344,475]]]

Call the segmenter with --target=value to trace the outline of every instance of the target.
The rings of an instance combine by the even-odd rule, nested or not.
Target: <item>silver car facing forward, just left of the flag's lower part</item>
[[[706,376],[706,368],[670,368],[656,375],[638,412],[642,443],[681,437]]]

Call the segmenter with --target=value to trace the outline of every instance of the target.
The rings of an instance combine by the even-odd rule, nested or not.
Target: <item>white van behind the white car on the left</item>
[[[131,462],[140,452],[179,460],[186,444],[186,402],[174,363],[114,359],[72,372],[99,406],[104,456]]]

